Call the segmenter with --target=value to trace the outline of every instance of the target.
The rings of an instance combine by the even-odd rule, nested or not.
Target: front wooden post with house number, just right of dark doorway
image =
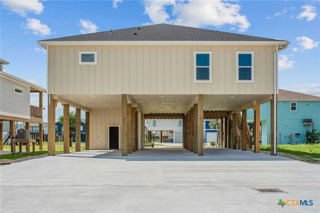
[[[128,107],[128,100],[127,95],[121,95],[121,156],[128,155],[128,125],[127,125],[127,107]],[[142,126],[142,124],[141,124]],[[144,126],[144,125],[143,125]]]

